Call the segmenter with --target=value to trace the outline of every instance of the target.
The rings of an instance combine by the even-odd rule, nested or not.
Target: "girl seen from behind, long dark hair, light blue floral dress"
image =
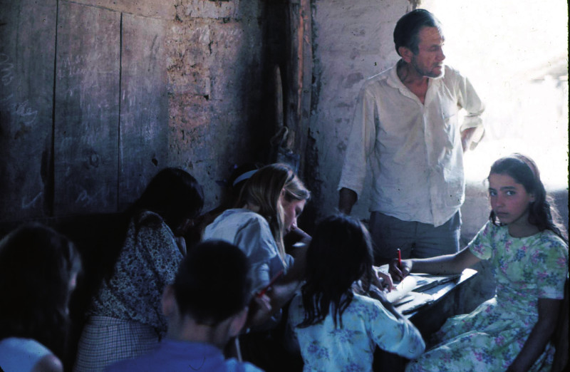
[[[371,289],[375,274],[370,235],[346,215],[319,223],[306,253],[306,282],[289,307],[289,323],[299,340],[304,371],[371,371],[375,346],[405,358],[423,353],[420,331],[378,291],[378,299],[358,294]]]

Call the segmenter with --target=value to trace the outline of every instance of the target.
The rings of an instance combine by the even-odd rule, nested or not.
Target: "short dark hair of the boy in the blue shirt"
[[[234,244],[205,240],[182,260],[173,287],[182,314],[214,326],[249,303],[249,260]]]

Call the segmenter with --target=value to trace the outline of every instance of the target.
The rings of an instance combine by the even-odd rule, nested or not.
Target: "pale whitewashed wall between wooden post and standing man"
[[[338,206],[336,188],[358,91],[366,78],[398,61],[393,29],[413,5],[408,0],[314,2],[315,83],[308,161],[317,215],[328,215]],[[353,215],[361,219],[369,217],[366,190],[369,187],[353,208]]]

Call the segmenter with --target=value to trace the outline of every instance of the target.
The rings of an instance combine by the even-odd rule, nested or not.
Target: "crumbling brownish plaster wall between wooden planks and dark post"
[[[206,207],[222,194],[220,180],[257,148],[261,96],[260,1],[177,1],[167,33],[168,161],[206,190]]]

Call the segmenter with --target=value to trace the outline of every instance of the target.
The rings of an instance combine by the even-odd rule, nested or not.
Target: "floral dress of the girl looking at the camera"
[[[550,230],[514,238],[491,222],[469,244],[492,262],[497,294],[471,314],[447,319],[439,342],[406,371],[504,371],[517,357],[538,321],[538,299],[562,299],[568,277],[568,247]],[[550,343],[530,371],[550,371]]]

